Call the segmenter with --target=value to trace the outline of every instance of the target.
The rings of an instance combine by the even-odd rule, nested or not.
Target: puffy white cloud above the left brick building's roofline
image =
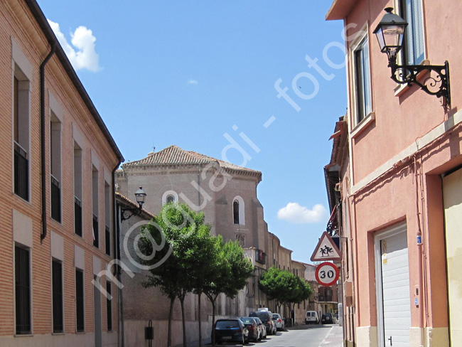
[[[72,43],[71,46],[60,31],[59,24],[49,19],[48,23],[50,23],[53,32],[61,46],[63,46],[63,50],[68,55],[69,61],[75,70],[87,69],[93,72],[101,70],[100,56],[95,50],[96,38],[90,29],[85,28],[85,26],[79,26],[75,29],[74,33],[70,33],[72,38],[70,41]]]

